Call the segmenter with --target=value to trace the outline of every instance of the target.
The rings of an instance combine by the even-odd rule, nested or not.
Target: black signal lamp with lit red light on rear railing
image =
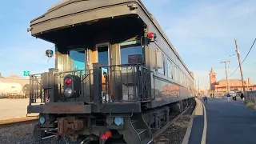
[[[81,90],[81,78],[67,74],[64,78],[64,95],[66,98],[78,98]]]

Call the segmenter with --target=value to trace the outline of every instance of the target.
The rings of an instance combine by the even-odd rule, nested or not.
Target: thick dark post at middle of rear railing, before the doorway
[[[94,103],[98,103],[102,99],[102,68],[100,63],[93,63],[93,94]]]

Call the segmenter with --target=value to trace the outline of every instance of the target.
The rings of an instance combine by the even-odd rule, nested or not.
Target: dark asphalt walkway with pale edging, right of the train
[[[226,98],[197,99],[190,144],[255,144],[256,110],[243,102],[227,102]]]

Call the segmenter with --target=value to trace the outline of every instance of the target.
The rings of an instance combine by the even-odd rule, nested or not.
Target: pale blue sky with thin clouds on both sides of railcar
[[[0,9],[0,72],[3,76],[22,76],[23,70],[42,73],[54,67],[54,59],[46,58],[45,50],[53,44],[30,36],[26,28],[30,20],[46,12],[58,0],[3,1]],[[230,60],[229,74],[238,66],[234,38],[242,59],[256,37],[256,2],[253,0],[142,0],[147,9],[166,31],[170,42],[181,55],[186,66],[200,86],[209,86],[209,70],[217,73],[217,79],[225,78],[224,64]],[[251,4],[252,3],[252,4]],[[256,46],[243,63],[244,78],[256,83]],[[241,78],[239,70],[231,78]]]

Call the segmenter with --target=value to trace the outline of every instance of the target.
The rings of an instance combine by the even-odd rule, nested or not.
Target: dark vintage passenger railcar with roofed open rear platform
[[[194,98],[193,73],[140,0],[62,1],[28,31],[55,44],[55,68],[30,75],[37,140],[149,143]]]

